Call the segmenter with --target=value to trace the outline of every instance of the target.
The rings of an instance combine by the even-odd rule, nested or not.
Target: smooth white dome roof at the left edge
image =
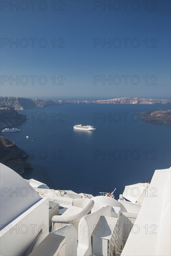
[[[38,193],[15,171],[0,163],[0,227],[12,222],[41,200]]]

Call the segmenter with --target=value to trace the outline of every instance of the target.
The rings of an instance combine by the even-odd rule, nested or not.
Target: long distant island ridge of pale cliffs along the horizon
[[[124,97],[97,101],[54,101],[0,96],[0,106],[9,106],[15,110],[44,108],[61,104],[171,104],[171,100]]]

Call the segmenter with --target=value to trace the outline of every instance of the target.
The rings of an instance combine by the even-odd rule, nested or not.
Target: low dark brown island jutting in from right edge
[[[171,110],[155,110],[141,113],[141,120],[160,125],[171,125]]]

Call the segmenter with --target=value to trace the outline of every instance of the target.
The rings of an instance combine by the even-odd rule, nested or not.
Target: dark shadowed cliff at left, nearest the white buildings
[[[23,174],[25,169],[32,169],[31,165],[25,163],[28,154],[17,147],[13,141],[0,136],[0,162],[12,168],[19,174]]]

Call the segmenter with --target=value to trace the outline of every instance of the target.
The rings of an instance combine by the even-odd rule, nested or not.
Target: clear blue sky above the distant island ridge
[[[171,2],[1,0],[1,96],[171,98]]]

